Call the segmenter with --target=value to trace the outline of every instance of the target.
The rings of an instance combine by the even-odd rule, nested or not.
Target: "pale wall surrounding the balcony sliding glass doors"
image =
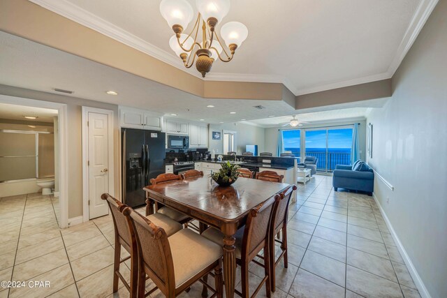
[[[360,139],[360,159],[365,161],[365,152],[366,152],[366,122],[365,120],[360,121],[337,121],[337,122],[328,122],[328,123],[320,123],[314,125],[301,126],[300,129],[305,128],[315,128],[315,127],[324,127],[324,126],[335,126],[335,125],[351,125],[354,123],[360,123],[358,126],[358,137]],[[272,152],[273,156],[277,156],[277,147],[278,147],[278,130],[284,129],[282,126],[265,128],[265,151]],[[287,128],[286,128],[287,129]]]

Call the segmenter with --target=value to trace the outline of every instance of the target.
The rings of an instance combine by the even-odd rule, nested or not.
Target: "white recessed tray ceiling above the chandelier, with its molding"
[[[31,1],[182,68],[160,0]],[[233,0],[222,24],[243,22],[249,36],[233,61],[219,61],[207,78],[284,82],[295,94],[389,78],[436,2]]]

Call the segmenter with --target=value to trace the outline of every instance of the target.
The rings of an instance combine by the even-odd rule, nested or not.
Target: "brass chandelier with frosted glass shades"
[[[160,12],[175,33],[169,40],[170,48],[186,68],[191,68],[195,62],[197,70],[205,77],[217,59],[223,62],[233,59],[235,50],[242,45],[249,31],[240,22],[223,24],[220,33],[228,46],[225,47],[215,29],[228,14],[230,0],[196,0],[196,6],[199,13],[189,34],[183,33],[193,20],[193,8],[188,1],[163,0]]]

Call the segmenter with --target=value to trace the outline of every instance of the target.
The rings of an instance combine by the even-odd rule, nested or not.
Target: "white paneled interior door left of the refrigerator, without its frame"
[[[109,192],[108,114],[89,112],[89,219],[108,214],[108,204],[101,199]]]

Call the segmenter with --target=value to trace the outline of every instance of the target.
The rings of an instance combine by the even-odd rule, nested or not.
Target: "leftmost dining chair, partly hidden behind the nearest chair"
[[[137,250],[134,246],[132,246],[132,234],[133,231],[129,228],[129,225],[126,223],[126,218],[122,211],[128,207],[126,204],[122,204],[119,200],[113,198],[108,193],[103,193],[101,195],[101,199],[105,200],[109,206],[110,213],[112,214],[113,227],[115,228],[115,255],[113,262],[113,292],[117,292],[118,290],[118,278],[121,279],[122,283],[129,290],[131,297],[137,297],[138,292],[138,260],[137,260]],[[168,218],[168,216],[164,216],[162,214],[152,214],[147,216],[148,220],[159,225],[165,233],[170,236],[182,230],[182,225]],[[121,248],[124,247],[126,251],[129,253],[129,256],[126,258],[121,258]],[[122,276],[119,271],[119,265],[122,262],[126,262],[126,260],[131,260],[131,281],[130,284],[126,282],[126,278]]]

